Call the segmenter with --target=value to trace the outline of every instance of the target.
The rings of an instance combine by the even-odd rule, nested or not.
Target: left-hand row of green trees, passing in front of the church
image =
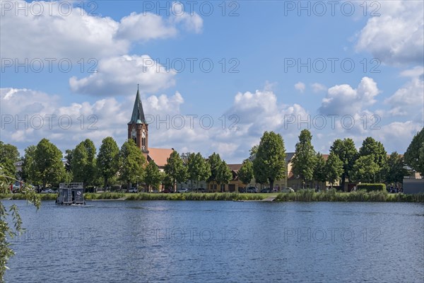
[[[103,139],[98,154],[90,139],[81,141],[75,149],[66,150],[66,162],[61,151],[48,139],[42,139],[36,146],[28,146],[25,156],[19,158],[16,146],[1,143],[0,162],[8,175],[16,175],[13,165],[23,161],[19,173],[26,183],[33,185],[57,185],[61,182],[82,182],[87,186],[110,187],[122,183],[131,187],[144,184],[146,188],[176,187],[187,180],[216,184],[228,183],[232,173],[219,154],[213,153],[207,160],[200,153],[185,153],[179,156],[173,151],[161,172],[154,161],[147,162],[133,140],[122,144],[121,149],[112,137]]]

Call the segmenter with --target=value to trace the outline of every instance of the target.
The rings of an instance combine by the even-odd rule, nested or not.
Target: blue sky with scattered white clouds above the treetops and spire
[[[127,138],[241,163],[365,137],[403,154],[424,125],[423,1],[0,1],[0,139],[21,154]]]

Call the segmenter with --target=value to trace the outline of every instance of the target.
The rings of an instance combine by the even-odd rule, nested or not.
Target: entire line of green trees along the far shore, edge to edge
[[[128,186],[144,183],[147,188],[158,188],[161,184],[175,187],[177,183],[191,180],[193,183],[208,181],[216,185],[228,183],[232,173],[219,154],[213,153],[205,159],[200,153],[172,152],[167,160],[165,172],[160,172],[154,161],[146,158],[134,141],[124,142],[121,149],[112,137],[103,139],[98,154],[90,139],[81,141],[75,149],[66,150],[63,166],[61,151],[47,139],[37,146],[25,149],[21,178],[34,185],[58,184],[60,182],[83,182],[86,186],[124,183]],[[15,175],[13,163],[19,161],[16,146],[0,141],[0,166],[7,175]],[[413,170],[424,171],[424,129],[411,141],[408,150],[401,156],[394,151],[387,155],[381,142],[367,137],[359,150],[353,139],[336,139],[331,145],[328,158],[314,150],[312,134],[303,129],[295,146],[292,171],[305,184],[326,182],[333,184],[341,180],[351,182],[402,182],[408,172],[406,164]],[[283,137],[274,132],[265,132],[259,145],[253,146],[250,157],[243,161],[238,172],[242,183],[253,179],[257,183],[273,187],[276,180],[286,176],[285,147]]]

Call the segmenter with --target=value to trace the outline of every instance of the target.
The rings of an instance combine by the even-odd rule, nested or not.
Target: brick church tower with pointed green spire
[[[128,123],[128,139],[133,139],[144,156],[148,155],[148,125],[144,117],[139,88],[137,87],[136,101]]]

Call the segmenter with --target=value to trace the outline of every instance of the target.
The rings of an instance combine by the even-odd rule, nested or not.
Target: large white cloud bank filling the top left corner
[[[175,37],[179,25],[195,33],[203,28],[203,19],[197,13],[184,12],[179,16],[172,13],[169,18],[131,13],[115,21],[89,15],[77,6],[69,8],[71,2],[66,7],[59,3],[10,2],[11,8],[4,8],[1,15],[1,37],[7,38],[0,41],[2,57],[100,60],[126,54],[134,42]],[[23,11],[16,14],[15,6],[24,7]]]

